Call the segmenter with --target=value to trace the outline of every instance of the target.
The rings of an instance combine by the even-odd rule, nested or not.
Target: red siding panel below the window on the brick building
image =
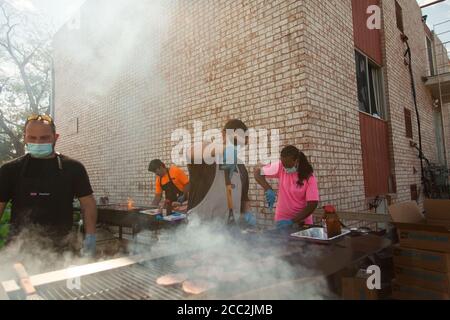
[[[386,195],[391,174],[388,124],[361,112],[360,125],[366,196]]]

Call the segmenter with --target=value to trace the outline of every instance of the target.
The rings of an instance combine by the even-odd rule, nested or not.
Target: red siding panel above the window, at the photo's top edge
[[[353,33],[355,47],[374,60],[380,66],[383,64],[381,55],[381,30],[367,28],[367,8],[371,5],[380,5],[379,0],[352,0]]]

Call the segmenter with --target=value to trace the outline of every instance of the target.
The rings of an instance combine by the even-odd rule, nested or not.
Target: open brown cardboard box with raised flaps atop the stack
[[[450,253],[450,201],[427,200],[426,216],[415,202],[389,207],[402,247]]]

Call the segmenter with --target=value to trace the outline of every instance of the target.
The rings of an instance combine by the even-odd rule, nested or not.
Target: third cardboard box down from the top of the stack
[[[450,293],[450,274],[395,266],[395,278],[405,285]]]

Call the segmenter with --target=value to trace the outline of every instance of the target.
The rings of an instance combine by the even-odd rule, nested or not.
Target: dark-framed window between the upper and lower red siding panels
[[[355,51],[359,110],[384,118],[383,76],[381,68]]]

